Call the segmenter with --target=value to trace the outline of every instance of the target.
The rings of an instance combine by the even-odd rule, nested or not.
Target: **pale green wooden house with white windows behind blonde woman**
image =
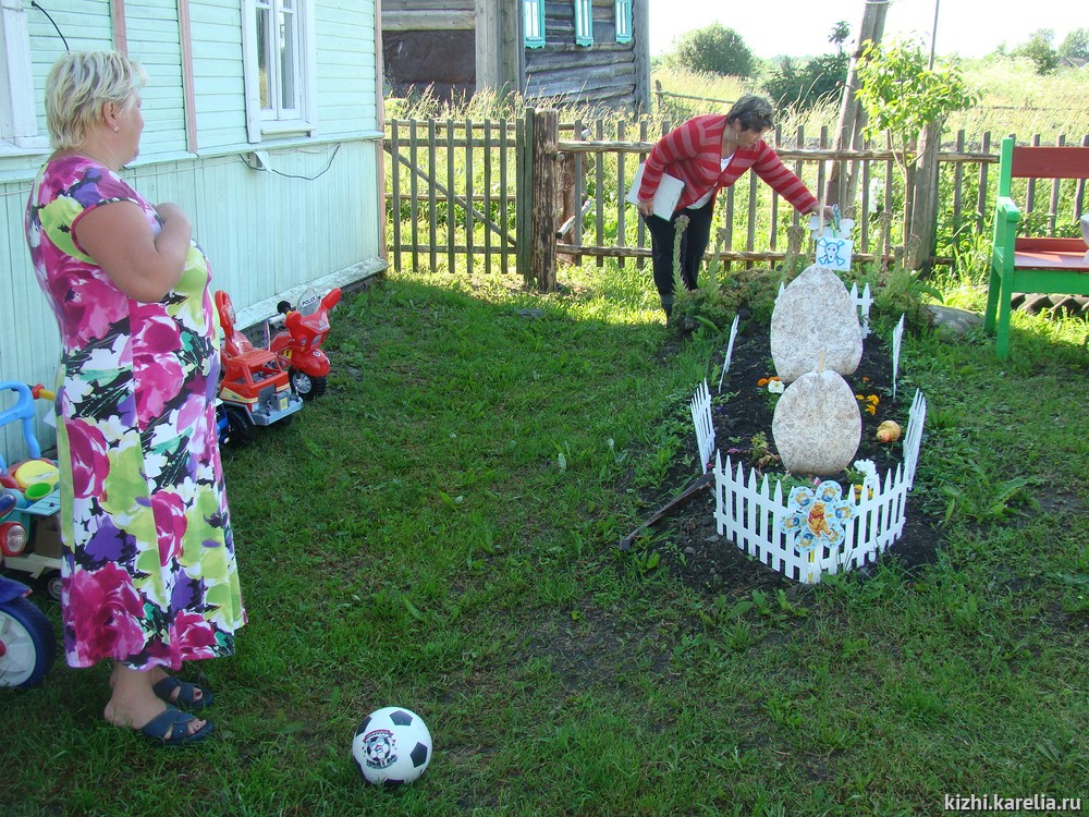
[[[212,285],[249,326],[281,298],[386,267],[378,13],[377,0],[4,0],[0,380],[54,378],[59,334],[23,215],[50,153],[46,75],[66,48],[144,65],[140,155],[122,174],[183,208]],[[15,426],[0,429],[9,462]]]

